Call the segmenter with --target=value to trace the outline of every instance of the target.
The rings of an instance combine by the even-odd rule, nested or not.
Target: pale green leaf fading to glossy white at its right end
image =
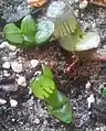
[[[96,48],[99,44],[99,35],[96,32],[85,33],[80,25],[74,33],[59,35],[61,46],[68,52],[81,52]]]

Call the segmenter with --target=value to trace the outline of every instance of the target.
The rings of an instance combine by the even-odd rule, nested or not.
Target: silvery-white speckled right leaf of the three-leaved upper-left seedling
[[[52,21],[41,21],[38,23],[38,32],[35,34],[36,44],[45,43],[54,32],[54,23]]]

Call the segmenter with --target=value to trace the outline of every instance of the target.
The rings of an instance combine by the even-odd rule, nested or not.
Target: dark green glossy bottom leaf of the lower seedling
[[[46,99],[49,111],[65,123],[73,122],[73,111],[68,99],[57,89]]]

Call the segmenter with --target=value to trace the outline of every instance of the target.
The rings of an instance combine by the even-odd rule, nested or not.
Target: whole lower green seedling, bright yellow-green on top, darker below
[[[51,114],[64,123],[73,123],[73,111],[68,99],[57,90],[51,69],[46,65],[42,68],[42,74],[31,83],[32,92],[45,101]]]

